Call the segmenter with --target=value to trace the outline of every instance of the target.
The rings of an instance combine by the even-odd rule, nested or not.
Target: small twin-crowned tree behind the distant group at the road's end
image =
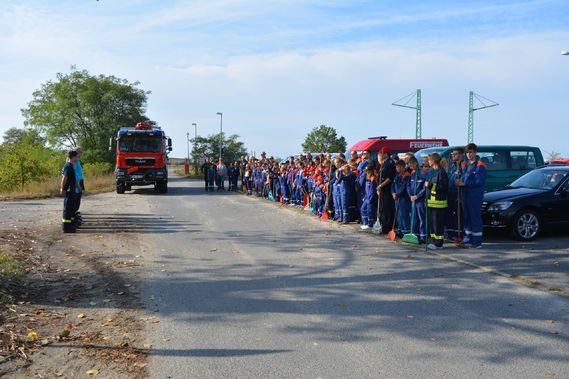
[[[244,143],[239,141],[237,134],[226,137],[225,133],[222,133],[222,141],[221,157],[224,162],[239,161],[242,155],[247,155],[247,149],[245,149]],[[192,160],[194,162],[199,162],[200,156],[209,157],[215,162],[219,160],[219,134],[197,137],[192,139],[192,143]]]

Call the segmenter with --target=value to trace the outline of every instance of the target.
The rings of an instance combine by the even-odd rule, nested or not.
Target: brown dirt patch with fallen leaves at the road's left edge
[[[0,231],[23,278],[2,278],[0,376],[147,376],[132,235]]]

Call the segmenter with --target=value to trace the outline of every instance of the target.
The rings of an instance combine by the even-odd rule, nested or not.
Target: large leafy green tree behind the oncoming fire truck
[[[71,68],[34,91],[22,109],[24,124],[42,134],[57,148],[83,147],[85,160],[112,161],[109,138],[119,128],[150,122],[144,115],[147,95],[139,82],[114,76],[92,76]]]

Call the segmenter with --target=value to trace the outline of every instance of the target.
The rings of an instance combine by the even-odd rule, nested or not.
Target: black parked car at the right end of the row
[[[484,227],[530,241],[547,227],[569,226],[569,166],[536,168],[506,189],[484,194]]]

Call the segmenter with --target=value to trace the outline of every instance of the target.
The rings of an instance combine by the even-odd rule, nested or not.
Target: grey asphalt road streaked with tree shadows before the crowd
[[[0,203],[0,224],[57,223],[60,203]],[[557,293],[199,181],[92,196],[84,214],[107,222],[81,233],[138,237],[154,378],[569,377]]]

